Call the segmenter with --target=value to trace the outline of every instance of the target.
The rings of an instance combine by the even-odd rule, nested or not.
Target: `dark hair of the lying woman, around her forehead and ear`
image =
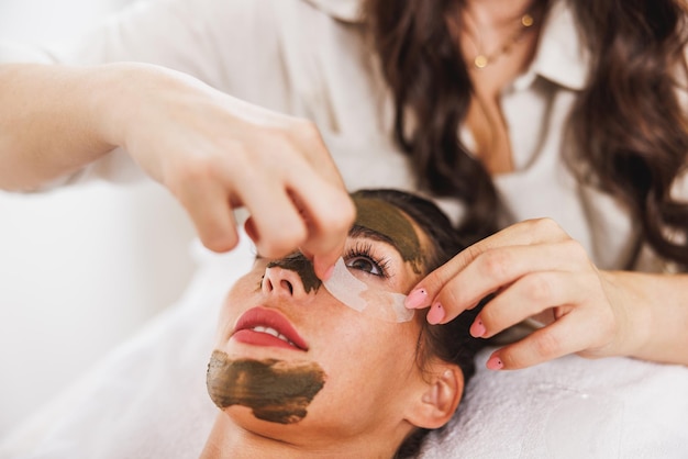
[[[355,197],[378,199],[401,209],[425,233],[430,240],[431,253],[424,254],[425,272],[444,265],[466,247],[459,235],[454,231],[452,222],[433,202],[417,194],[391,189],[359,190]],[[464,381],[475,373],[475,356],[485,347],[485,339],[474,338],[468,333],[481,305],[466,311],[444,325],[430,325],[424,317],[418,345],[418,362],[423,368],[430,357],[456,363],[464,373]],[[397,458],[409,458],[418,454],[428,429],[417,429],[409,436],[397,451]]]

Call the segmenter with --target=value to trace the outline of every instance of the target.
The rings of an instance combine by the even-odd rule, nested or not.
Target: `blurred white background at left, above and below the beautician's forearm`
[[[2,0],[0,40],[71,40],[129,2]],[[0,192],[0,439],[179,296],[192,236],[156,183]]]

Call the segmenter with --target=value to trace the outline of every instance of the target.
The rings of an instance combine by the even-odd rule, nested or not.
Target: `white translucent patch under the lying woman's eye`
[[[375,318],[397,323],[413,318],[413,310],[403,305],[407,295],[370,288],[348,270],[341,257],[330,279],[322,284],[346,306]]]

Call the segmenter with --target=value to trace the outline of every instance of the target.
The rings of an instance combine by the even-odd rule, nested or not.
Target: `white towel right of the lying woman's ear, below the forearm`
[[[576,356],[479,371],[421,458],[688,458],[688,369]]]

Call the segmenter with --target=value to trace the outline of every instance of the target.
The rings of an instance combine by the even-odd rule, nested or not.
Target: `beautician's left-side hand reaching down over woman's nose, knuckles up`
[[[113,67],[102,128],[190,214],[203,244],[237,243],[232,208],[245,206],[258,251],[300,247],[324,277],[355,210],[314,124],[248,104],[175,71]]]

